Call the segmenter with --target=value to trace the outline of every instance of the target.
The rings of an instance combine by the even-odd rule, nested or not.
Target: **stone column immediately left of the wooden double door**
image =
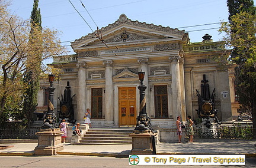
[[[113,61],[103,61],[105,65],[105,124],[104,127],[114,127],[113,108]]]

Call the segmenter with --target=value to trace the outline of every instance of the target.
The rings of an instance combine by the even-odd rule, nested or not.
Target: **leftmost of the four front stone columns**
[[[75,115],[75,119],[79,123],[84,123],[84,114],[86,111],[86,63],[85,62],[79,62],[76,64],[76,67],[78,67],[78,101],[77,101],[77,113]]]

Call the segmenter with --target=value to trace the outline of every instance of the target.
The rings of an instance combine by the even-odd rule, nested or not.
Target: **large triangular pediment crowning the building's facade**
[[[132,21],[126,15],[120,15],[114,24],[101,28],[85,37],[71,42],[72,48],[78,50],[86,47],[100,47],[101,45],[126,45],[136,41],[158,41],[159,39],[182,40],[184,31],[169,27]]]

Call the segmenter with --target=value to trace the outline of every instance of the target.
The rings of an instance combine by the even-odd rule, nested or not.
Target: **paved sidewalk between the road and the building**
[[[245,154],[256,157],[255,141],[201,141],[194,143],[159,143],[156,154]],[[0,150],[0,156],[33,156],[37,143],[10,143],[0,146],[14,146]],[[63,144],[58,154],[82,156],[128,157],[132,144],[124,145],[71,145]]]

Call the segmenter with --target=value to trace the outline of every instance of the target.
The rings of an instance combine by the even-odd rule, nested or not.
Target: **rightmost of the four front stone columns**
[[[169,57],[171,61],[171,75],[172,75],[172,107],[174,121],[178,116],[181,116],[181,84],[180,84],[180,55]]]

